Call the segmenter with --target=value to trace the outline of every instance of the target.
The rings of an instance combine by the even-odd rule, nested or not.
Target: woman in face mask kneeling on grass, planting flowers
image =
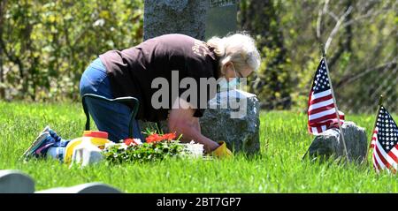
[[[152,82],[161,78],[168,82],[168,90],[172,91],[172,87],[175,86],[172,83],[176,83],[173,81],[176,73],[177,82],[184,78],[192,78],[196,85],[200,85],[202,78],[225,78],[226,81],[247,78],[251,72],[256,71],[259,64],[260,57],[255,42],[248,34],[213,37],[207,42],[184,34],[165,34],[143,41],[130,49],[110,50],[100,55],[82,74],[80,95],[137,98],[140,108],[134,121],[136,139],[144,141],[137,119],[151,122],[167,119],[170,132],[182,134],[181,141],[195,140],[204,145],[207,153],[226,155],[230,154],[230,151],[226,149],[224,142],[211,140],[201,133],[198,117],[203,116],[203,108],[180,98],[184,89],[177,85],[177,94],[169,92],[168,96],[162,96],[163,100],[167,98],[171,101],[168,102],[168,108],[159,109],[158,105],[152,103],[153,94],[157,92]],[[195,102],[203,101],[203,95],[209,98],[205,99],[206,102],[210,100],[209,94],[200,94],[203,90],[201,87],[198,86],[198,90]],[[204,90],[207,92],[207,89]],[[109,139],[119,141],[127,138],[131,113],[129,105],[100,102],[95,99],[88,99],[87,104],[97,128],[108,132]],[[48,139],[51,140],[50,137]],[[65,143],[58,144],[57,147],[65,147]],[[26,155],[37,154],[37,150],[34,149],[41,149],[39,153],[45,154],[49,148],[45,146],[51,146],[49,140],[36,140]]]

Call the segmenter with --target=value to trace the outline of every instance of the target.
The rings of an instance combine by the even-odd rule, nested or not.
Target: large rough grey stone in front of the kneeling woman
[[[222,92],[210,100],[209,107],[200,118],[204,136],[225,140],[233,152],[259,152],[260,109],[255,94],[241,90]]]

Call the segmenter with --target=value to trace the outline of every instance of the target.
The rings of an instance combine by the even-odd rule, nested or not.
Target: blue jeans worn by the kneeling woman
[[[108,74],[100,58],[96,58],[89,64],[81,76],[80,96],[83,94],[98,94],[106,98],[114,98]],[[89,114],[93,117],[99,131],[108,132],[109,139],[114,142],[128,138],[128,124],[132,109],[119,102],[103,102],[92,98],[87,98],[86,102]],[[133,137],[141,139],[142,142],[145,141],[137,120],[133,121]]]

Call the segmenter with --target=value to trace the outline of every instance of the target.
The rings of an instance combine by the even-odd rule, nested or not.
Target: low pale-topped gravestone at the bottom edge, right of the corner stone
[[[118,189],[102,183],[88,183],[72,187],[57,187],[35,193],[121,193]]]

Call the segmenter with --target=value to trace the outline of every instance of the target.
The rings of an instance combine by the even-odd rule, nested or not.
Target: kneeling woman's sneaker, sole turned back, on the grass
[[[45,154],[45,151],[52,145],[54,145],[55,140],[51,137],[50,132],[42,132],[27,148],[27,151],[22,155],[24,158],[38,157]]]

